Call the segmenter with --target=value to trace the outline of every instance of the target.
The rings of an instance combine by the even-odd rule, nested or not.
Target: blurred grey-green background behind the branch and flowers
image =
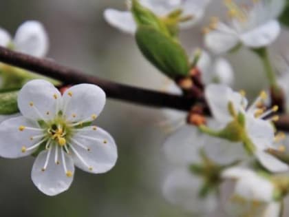
[[[182,32],[187,52],[202,48],[201,30],[209,17],[224,16],[221,2],[214,0],[204,21]],[[125,1],[0,0],[0,26],[13,35],[23,21],[39,20],[50,37],[49,58],[111,81],[162,90],[164,76],[142,57],[133,37],[105,22],[105,8],[125,10]],[[286,52],[286,38],[288,33],[284,30],[272,46],[272,53]],[[263,68],[253,53],[242,49],[228,59],[235,70],[235,88],[255,96],[265,87]],[[34,158],[1,158],[1,216],[191,216],[162,196],[162,183],[171,168],[162,152],[167,136],[160,127],[162,121],[160,109],[108,99],[96,124],[110,132],[118,144],[116,167],[103,175],[78,169],[69,191],[52,198],[32,183]],[[220,216],[224,216],[222,211]]]

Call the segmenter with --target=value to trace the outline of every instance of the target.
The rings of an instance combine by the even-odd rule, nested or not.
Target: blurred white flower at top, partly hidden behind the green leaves
[[[159,17],[165,17],[173,10],[182,10],[182,17],[191,17],[180,24],[181,28],[190,28],[202,19],[209,0],[140,0],[140,3]],[[129,11],[108,8],[104,12],[105,20],[115,28],[129,34],[136,32],[136,23]]]

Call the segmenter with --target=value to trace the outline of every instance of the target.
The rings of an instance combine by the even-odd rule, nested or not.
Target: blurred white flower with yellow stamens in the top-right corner
[[[208,28],[204,28],[205,44],[215,53],[228,52],[239,43],[249,48],[261,48],[270,45],[280,33],[277,18],[284,7],[284,0],[254,1],[252,8],[240,8],[232,0],[225,0],[231,16],[226,24],[212,19]]]

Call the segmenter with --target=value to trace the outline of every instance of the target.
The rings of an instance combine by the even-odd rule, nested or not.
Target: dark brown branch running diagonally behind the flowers
[[[111,99],[118,99],[122,101],[129,101],[141,105],[148,105],[152,107],[169,107],[175,110],[188,111],[195,103],[196,99],[185,96],[176,96],[174,94],[166,94],[153,90],[145,90],[139,87],[132,87],[129,85],[122,85],[105,79],[100,79],[96,76],[90,76],[65,67],[54,61],[48,59],[39,59],[34,56],[14,52],[0,46],[0,61],[8,65],[13,65],[37,74],[42,74],[50,78],[62,81],[65,84],[77,83],[93,83],[100,86],[107,97]],[[277,121],[276,126],[278,130],[289,132],[289,116],[283,115]]]

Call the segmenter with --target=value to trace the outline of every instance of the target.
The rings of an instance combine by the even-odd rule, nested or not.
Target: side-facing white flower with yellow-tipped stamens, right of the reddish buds
[[[269,119],[266,117],[276,112],[278,107],[274,106],[267,111],[258,107],[266,99],[265,92],[261,92],[250,107],[243,94],[233,92],[225,85],[208,85],[205,95],[214,118],[224,127],[235,121],[234,124],[239,125],[235,127],[241,130],[239,133],[245,147],[255,154],[264,167],[271,172],[288,170],[288,165],[266,152],[275,149],[275,129],[271,123],[275,116]],[[239,114],[244,118],[244,126],[239,123]]]

